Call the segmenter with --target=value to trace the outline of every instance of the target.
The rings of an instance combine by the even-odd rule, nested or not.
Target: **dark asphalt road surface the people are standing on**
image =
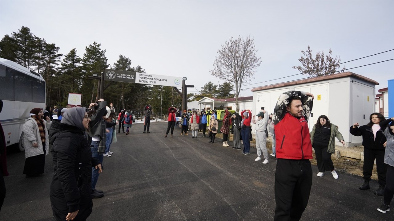
[[[275,159],[269,164],[255,162],[250,155],[223,147],[221,140],[180,136],[164,138],[167,122],[151,123],[151,133],[142,133],[134,124],[129,135],[117,134],[112,157],[104,158],[104,171],[97,189],[105,196],[93,199],[90,221],[254,221],[273,220],[275,210]],[[230,143],[232,144],[232,143]],[[0,220],[52,220],[49,185],[52,156],[46,156],[45,174],[25,178],[24,153],[9,153],[7,196]],[[307,209],[301,220],[385,221],[394,220],[394,211],[376,210],[383,197],[372,190],[361,191],[362,178],[338,173],[317,177],[314,171]]]

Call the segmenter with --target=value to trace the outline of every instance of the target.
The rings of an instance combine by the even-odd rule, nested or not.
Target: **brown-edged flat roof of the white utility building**
[[[355,77],[355,78],[358,78],[358,79],[361,79],[364,81],[368,81],[374,85],[379,85],[379,83],[377,83],[377,81],[374,81],[368,77],[364,77],[359,74],[355,74],[353,72],[343,72],[343,73],[330,74],[330,75],[319,76],[319,77],[309,77],[307,79],[284,82],[284,83],[279,83],[279,84],[275,84],[275,85],[256,87],[256,88],[253,88],[251,91],[266,90],[266,89],[279,88],[279,87],[287,87],[290,85],[299,85],[299,84],[305,84],[305,83],[311,83],[311,82],[326,81],[326,80],[330,80],[330,79],[337,79],[337,78],[343,78],[343,77]]]

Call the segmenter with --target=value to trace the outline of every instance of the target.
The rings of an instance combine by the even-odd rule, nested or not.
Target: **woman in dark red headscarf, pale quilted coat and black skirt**
[[[48,154],[48,131],[50,118],[43,119],[44,110],[33,108],[30,118],[23,125],[23,144],[25,148],[25,164],[23,174],[26,177],[37,177],[44,173],[45,155]]]

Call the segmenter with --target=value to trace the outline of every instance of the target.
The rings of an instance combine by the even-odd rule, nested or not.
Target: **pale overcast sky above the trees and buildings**
[[[341,62],[394,49],[394,1],[0,1],[0,37],[22,26],[83,57],[97,41],[108,64],[125,55],[147,73],[187,77],[197,90],[211,76],[217,50],[230,37],[254,39],[261,65],[252,87],[303,78],[301,50],[331,48]],[[353,68],[394,58],[394,51],[343,64]],[[387,87],[394,60],[349,70]],[[269,82],[263,82],[269,81]],[[188,88],[188,92],[197,92]],[[247,88],[247,89],[246,89]]]

